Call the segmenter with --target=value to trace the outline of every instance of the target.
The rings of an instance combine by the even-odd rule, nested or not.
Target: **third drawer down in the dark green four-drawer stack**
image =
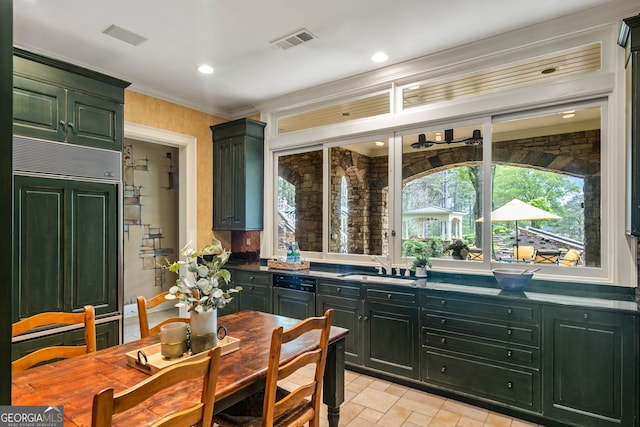
[[[540,364],[537,348],[502,345],[472,337],[433,332],[426,328],[422,328],[422,345],[530,368],[537,368]]]

